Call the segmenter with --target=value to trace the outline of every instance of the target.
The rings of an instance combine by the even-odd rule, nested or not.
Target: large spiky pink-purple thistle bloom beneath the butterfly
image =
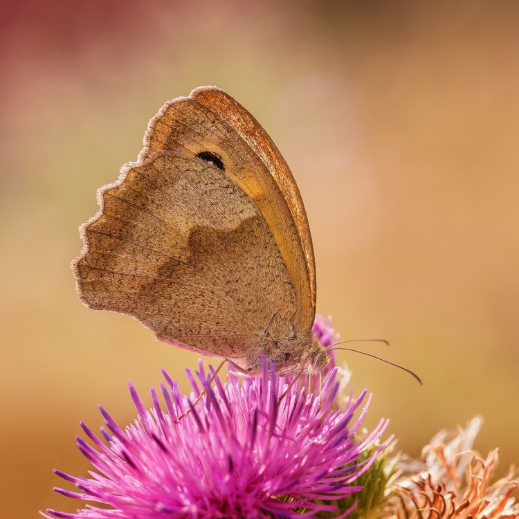
[[[241,383],[237,376],[226,383],[215,377],[212,384],[200,364],[199,382],[188,372],[190,399],[181,396],[165,371],[163,375],[165,410],[153,389],[153,408],[145,410],[130,384],[138,410],[134,424],[123,430],[100,408],[104,441],[82,424],[91,443],[78,438],[78,448],[95,468],[90,477],[57,471],[79,489],[58,492],[101,506],[90,504],[78,513],[48,510],[42,515],[160,519],[340,513],[344,517],[356,503],[340,512],[336,503],[362,488],[358,478],[390,441],[378,444],[385,420],[358,439],[370,401],[366,391],[345,409],[333,409],[336,369],[320,394],[308,394],[277,378],[266,362],[260,377]],[[192,400],[203,390],[201,402],[193,406]],[[355,421],[356,410],[360,416]]]

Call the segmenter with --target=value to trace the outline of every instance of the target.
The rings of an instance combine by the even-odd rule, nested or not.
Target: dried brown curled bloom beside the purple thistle
[[[385,518],[519,519],[519,504],[512,497],[519,488],[514,468],[491,483],[498,450],[486,459],[472,450],[481,424],[475,417],[455,437],[439,432],[420,461],[399,462],[401,475],[392,484]]]

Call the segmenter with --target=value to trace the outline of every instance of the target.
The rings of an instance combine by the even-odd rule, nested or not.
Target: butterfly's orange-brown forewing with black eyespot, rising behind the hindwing
[[[295,325],[308,331],[316,313],[316,267],[307,213],[289,166],[260,123],[223,90],[201,86],[162,107],[144,144],[140,158],[178,145],[221,158],[271,229],[298,294]]]

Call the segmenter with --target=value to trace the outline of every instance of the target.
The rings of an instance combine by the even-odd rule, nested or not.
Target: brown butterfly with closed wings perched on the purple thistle
[[[158,340],[261,371],[320,372],[306,212],[259,122],[215,86],[167,102],[136,163],[98,191],[73,261],[81,300]]]

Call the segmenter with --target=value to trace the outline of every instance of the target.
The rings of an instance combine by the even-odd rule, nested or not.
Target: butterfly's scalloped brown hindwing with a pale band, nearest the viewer
[[[273,236],[250,197],[212,161],[185,149],[127,166],[100,190],[73,265],[83,302],[134,316],[159,339],[240,358],[276,311],[297,298]]]

